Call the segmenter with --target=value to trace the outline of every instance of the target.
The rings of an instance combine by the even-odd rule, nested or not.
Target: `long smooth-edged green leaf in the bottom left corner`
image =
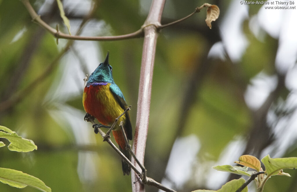
[[[52,191],[48,186],[45,185],[45,183],[43,183],[42,180],[14,169],[0,167],[0,181],[17,188],[24,188],[29,185],[40,191]]]

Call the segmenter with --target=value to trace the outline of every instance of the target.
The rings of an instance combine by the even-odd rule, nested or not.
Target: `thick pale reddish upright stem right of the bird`
[[[156,44],[158,32],[156,25],[160,23],[165,0],[153,0],[149,15],[144,23],[144,41],[140,69],[137,117],[135,136],[133,143],[133,151],[138,160],[144,163],[144,151],[146,147],[146,137],[149,127],[149,109],[151,103],[151,85],[153,79],[154,59],[156,52]],[[135,160],[132,163],[140,169]],[[144,192],[145,188],[138,180],[138,175],[132,171],[132,191]],[[134,183],[136,182],[136,183]]]

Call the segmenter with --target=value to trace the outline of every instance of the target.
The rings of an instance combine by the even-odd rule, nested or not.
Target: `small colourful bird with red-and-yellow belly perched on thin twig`
[[[86,111],[85,119],[96,118],[104,126],[112,126],[117,117],[127,109],[127,103],[118,85],[113,80],[112,67],[108,63],[107,53],[105,61],[100,63],[95,71],[90,75],[83,91],[83,107]],[[132,140],[132,125],[129,111],[119,119],[113,128],[113,137],[119,145],[121,152],[131,160],[129,151],[126,150],[126,142],[119,123],[124,122],[124,130],[129,140]],[[98,130],[94,129],[95,133]],[[122,160],[122,170],[124,175],[130,174],[130,166]]]

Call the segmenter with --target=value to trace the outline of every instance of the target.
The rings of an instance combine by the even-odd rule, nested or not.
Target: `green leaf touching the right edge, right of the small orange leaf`
[[[261,161],[268,175],[278,174],[281,169],[293,169],[297,167],[297,157],[271,158],[270,155],[266,155]]]

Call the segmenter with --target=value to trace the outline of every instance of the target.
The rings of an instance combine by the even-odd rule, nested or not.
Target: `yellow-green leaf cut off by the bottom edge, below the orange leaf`
[[[195,190],[192,192],[235,192],[242,184],[244,184],[245,180],[243,178],[233,179],[232,181],[227,182],[217,191],[213,190]],[[247,192],[247,187],[245,187],[242,192]]]

